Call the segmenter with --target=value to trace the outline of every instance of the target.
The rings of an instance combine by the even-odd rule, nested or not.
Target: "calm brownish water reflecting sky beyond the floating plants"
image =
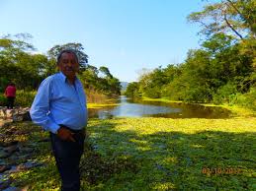
[[[228,118],[230,115],[227,109],[197,104],[132,100],[127,96],[120,96],[118,102],[119,106],[89,109],[89,117]]]

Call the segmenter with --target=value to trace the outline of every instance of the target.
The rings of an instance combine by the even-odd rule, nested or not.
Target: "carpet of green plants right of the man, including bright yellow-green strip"
[[[91,121],[88,130],[104,159],[124,158],[139,166],[136,173],[113,175],[103,190],[232,190],[253,186],[255,125],[244,118],[141,118]],[[244,145],[246,151],[240,149]],[[204,167],[242,172],[204,174]]]

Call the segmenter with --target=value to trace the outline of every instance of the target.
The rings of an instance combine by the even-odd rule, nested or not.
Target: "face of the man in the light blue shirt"
[[[59,60],[58,69],[67,77],[74,78],[79,70],[79,64],[73,53],[64,52]]]

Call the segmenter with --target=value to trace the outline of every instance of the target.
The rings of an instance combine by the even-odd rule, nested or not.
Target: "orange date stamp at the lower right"
[[[203,167],[204,174],[240,174],[242,169],[238,167]]]

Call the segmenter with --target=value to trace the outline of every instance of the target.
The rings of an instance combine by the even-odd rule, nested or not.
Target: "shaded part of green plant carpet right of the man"
[[[255,189],[254,132],[138,134],[135,130],[117,130],[116,126],[117,123],[99,122],[89,127],[89,142],[100,158],[92,159],[94,165],[86,162],[83,165],[86,169],[83,177],[94,179],[89,181],[92,187],[103,190]],[[111,171],[99,167],[119,159],[128,165]],[[96,171],[87,173],[88,169]]]

